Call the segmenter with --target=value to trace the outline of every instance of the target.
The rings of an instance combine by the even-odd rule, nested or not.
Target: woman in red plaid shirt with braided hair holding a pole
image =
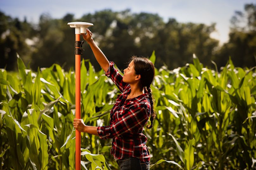
[[[74,119],[73,125],[80,132],[94,134],[101,139],[113,138],[111,154],[121,170],[149,170],[150,154],[146,146],[147,137],[142,130],[150,116],[151,125],[147,128],[153,126],[155,119],[150,89],[155,74],[154,65],[145,57],[132,57],[122,76],[93,41],[91,31],[86,31],[83,38],[122,94],[117,96],[111,109],[109,126],[87,126],[82,119]]]

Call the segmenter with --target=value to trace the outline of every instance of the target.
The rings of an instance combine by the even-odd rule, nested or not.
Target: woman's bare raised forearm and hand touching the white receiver
[[[86,29],[87,34],[82,34],[84,40],[90,45],[91,49],[93,50],[93,54],[98,61],[101,68],[107,72],[107,69],[109,68],[109,60],[104,55],[104,53],[101,51],[101,49],[98,47],[98,45],[94,42],[92,38],[92,32],[87,28]]]

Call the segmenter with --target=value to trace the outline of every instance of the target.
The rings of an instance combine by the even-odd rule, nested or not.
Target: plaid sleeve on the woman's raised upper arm
[[[112,79],[118,89],[123,93],[123,90],[127,87],[128,83],[123,82],[123,76],[117,71],[114,67],[115,63],[109,62],[109,69],[105,73],[105,75]]]

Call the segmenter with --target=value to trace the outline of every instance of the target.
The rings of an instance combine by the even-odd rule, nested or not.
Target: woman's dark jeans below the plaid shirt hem
[[[149,164],[141,162],[138,158],[129,157],[117,160],[120,170],[149,170]]]

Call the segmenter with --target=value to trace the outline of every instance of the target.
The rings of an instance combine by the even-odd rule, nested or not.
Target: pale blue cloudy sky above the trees
[[[67,13],[80,18],[84,14],[111,9],[122,11],[131,9],[133,13],[148,12],[158,14],[165,22],[175,18],[177,22],[216,23],[212,38],[220,44],[228,41],[230,19],[236,10],[243,11],[244,4],[256,0],[0,0],[0,11],[4,14],[28,22],[38,23],[43,13],[52,18],[62,18]],[[89,22],[89,21],[81,21]]]

